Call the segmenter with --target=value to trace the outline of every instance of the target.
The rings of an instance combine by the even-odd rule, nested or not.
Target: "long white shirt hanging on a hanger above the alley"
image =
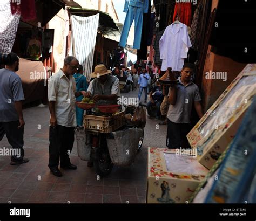
[[[185,24],[180,22],[166,27],[159,42],[160,58],[163,59],[161,71],[166,71],[168,67],[172,71],[181,71],[191,46]]]

